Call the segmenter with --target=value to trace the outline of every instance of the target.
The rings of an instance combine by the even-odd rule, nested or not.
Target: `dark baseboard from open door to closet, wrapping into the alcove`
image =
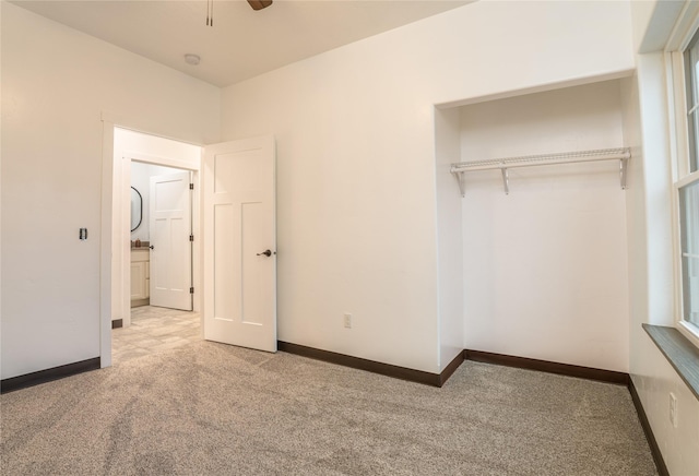
[[[316,360],[322,360],[330,364],[336,364],[353,369],[365,370],[368,372],[380,373],[382,376],[392,377],[394,379],[407,380],[415,383],[423,383],[431,386],[442,386],[449,377],[463,362],[463,355],[458,355],[441,373],[424,372],[422,370],[408,369],[405,367],[393,366],[390,364],[377,362],[375,360],[363,359],[344,354],[337,354],[330,350],[321,350],[319,348],[307,347],[305,345],[292,344],[279,341],[277,348],[281,352],[295,354],[301,357],[308,357]]]

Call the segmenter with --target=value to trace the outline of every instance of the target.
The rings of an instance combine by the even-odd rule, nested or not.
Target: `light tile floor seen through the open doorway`
[[[141,306],[131,309],[131,325],[111,330],[114,365],[201,341],[197,312]]]

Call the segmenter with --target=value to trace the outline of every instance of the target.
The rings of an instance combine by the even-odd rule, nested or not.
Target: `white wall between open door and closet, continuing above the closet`
[[[485,1],[225,88],[224,139],[276,136],[280,338],[439,371],[434,105],[619,74],[630,41],[624,2]]]

